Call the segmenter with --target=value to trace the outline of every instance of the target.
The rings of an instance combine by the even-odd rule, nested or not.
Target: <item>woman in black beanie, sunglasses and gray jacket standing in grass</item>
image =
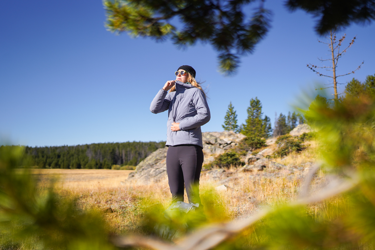
[[[172,203],[184,201],[184,184],[189,203],[199,203],[199,176],[203,163],[201,126],[210,120],[210,109],[193,67],[183,65],[151,102],[154,114],[168,109],[166,170]],[[167,91],[169,90],[169,93]]]

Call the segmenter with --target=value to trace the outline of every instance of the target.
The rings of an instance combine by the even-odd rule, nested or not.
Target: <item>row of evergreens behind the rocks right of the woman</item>
[[[228,105],[224,117],[223,129],[226,131],[232,130],[236,133],[242,133],[248,137],[268,138],[270,136],[280,136],[289,133],[298,124],[305,123],[305,118],[296,112],[289,112],[288,116],[282,113],[275,120],[275,129],[272,129],[270,118],[265,115],[263,117],[262,103],[255,97],[250,100],[250,106],[247,109],[248,117],[245,123],[240,126],[237,124],[237,114],[234,110],[232,102]]]

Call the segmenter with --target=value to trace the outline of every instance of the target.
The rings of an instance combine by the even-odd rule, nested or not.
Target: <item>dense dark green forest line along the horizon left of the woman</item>
[[[136,166],[165,142],[116,142],[75,146],[25,147],[26,167],[110,169],[112,165]],[[4,146],[2,146],[4,147]]]

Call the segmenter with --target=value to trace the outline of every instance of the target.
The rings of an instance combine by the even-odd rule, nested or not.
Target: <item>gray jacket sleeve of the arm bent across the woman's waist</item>
[[[210,109],[208,108],[206,97],[201,90],[196,91],[196,94],[192,101],[197,114],[194,116],[186,117],[185,119],[180,121],[181,130],[187,130],[202,126],[208,123],[211,118]]]

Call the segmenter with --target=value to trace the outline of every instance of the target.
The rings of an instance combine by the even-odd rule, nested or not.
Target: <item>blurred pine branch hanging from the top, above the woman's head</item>
[[[131,36],[171,39],[186,47],[199,40],[219,52],[220,70],[236,72],[241,55],[252,53],[266,35],[270,11],[262,2],[245,18],[243,7],[252,1],[104,0],[108,30]],[[175,21],[181,25],[175,25]]]

